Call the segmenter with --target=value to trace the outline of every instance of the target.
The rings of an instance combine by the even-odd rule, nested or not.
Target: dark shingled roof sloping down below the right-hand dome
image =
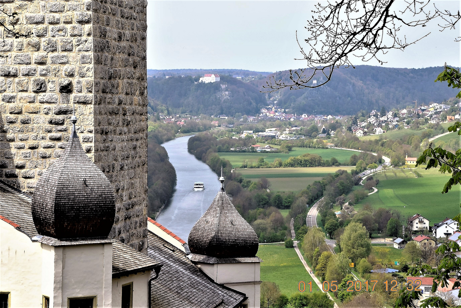
[[[150,231],[148,256],[163,264],[152,282],[151,308],[236,308],[247,299],[244,293],[214,282],[182,250]]]

